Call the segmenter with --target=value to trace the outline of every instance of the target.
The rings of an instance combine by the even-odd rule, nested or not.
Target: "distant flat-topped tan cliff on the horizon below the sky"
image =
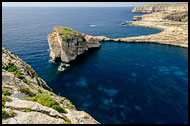
[[[188,11],[187,3],[178,4],[149,4],[133,8],[132,12]]]

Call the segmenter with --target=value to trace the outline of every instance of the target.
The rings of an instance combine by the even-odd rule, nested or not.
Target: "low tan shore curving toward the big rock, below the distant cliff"
[[[161,32],[156,34],[126,38],[108,38],[105,36],[93,37],[102,42],[150,42],[188,48],[188,22],[178,22],[167,19],[163,20],[163,17],[171,13],[173,12],[154,12],[138,16],[139,18],[142,18],[140,21],[129,21],[129,23],[133,26],[148,27],[161,30]],[[137,16],[134,17],[137,18]]]

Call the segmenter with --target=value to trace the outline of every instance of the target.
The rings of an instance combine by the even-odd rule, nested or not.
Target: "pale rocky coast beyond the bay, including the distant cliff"
[[[162,4],[158,4],[161,8]],[[148,9],[151,14],[145,14],[142,16],[135,16],[134,20],[129,21],[131,25],[156,28],[162,30],[158,34],[128,37],[128,38],[117,38],[112,39],[105,36],[94,36],[99,41],[115,41],[115,42],[153,42],[160,44],[175,45],[180,47],[188,48],[188,4],[169,4],[172,9],[157,9],[155,12],[152,9]],[[146,5],[144,5],[146,8]],[[152,5],[151,5],[152,6]],[[154,5],[156,6],[156,5]],[[163,6],[166,6],[163,4]],[[143,8],[143,6],[141,6]],[[168,7],[170,8],[170,7]],[[183,8],[183,9],[180,9]],[[133,12],[145,12],[145,9],[133,9]],[[151,11],[150,11],[151,10]],[[147,11],[146,11],[147,12]],[[142,17],[142,20],[137,19]]]

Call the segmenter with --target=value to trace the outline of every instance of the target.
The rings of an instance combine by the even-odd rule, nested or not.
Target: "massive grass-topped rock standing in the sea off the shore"
[[[75,60],[88,49],[100,47],[99,41],[92,36],[61,26],[54,27],[48,35],[48,43],[51,59],[65,63]]]

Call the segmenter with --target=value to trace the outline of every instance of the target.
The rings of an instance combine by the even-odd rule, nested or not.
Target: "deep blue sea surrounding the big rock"
[[[56,25],[111,38],[158,33],[134,27],[132,8],[3,8],[3,47],[100,123],[187,123],[188,49],[151,43],[101,43],[71,67],[49,63],[47,35]],[[91,25],[95,25],[92,27]]]

